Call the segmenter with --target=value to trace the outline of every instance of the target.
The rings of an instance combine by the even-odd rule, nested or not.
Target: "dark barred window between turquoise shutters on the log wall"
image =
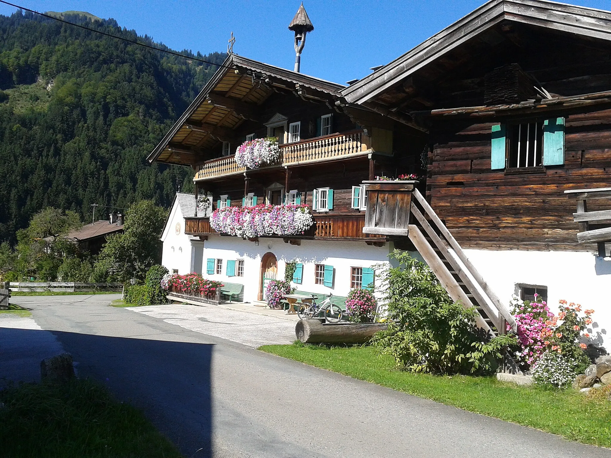
[[[539,167],[543,165],[543,123],[530,122],[510,125],[507,167]]]

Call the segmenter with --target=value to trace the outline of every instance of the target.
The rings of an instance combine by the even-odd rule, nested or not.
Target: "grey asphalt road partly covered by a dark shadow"
[[[12,302],[33,309],[37,324],[73,354],[81,376],[101,380],[118,398],[143,409],[186,457],[611,456],[609,449],[108,307],[109,299]],[[23,329],[19,338],[25,346],[43,330]],[[0,333],[0,344],[1,339]]]

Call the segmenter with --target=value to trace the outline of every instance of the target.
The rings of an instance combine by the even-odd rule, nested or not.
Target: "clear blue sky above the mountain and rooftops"
[[[45,11],[81,10],[114,18],[139,35],[173,49],[207,54],[225,51],[230,33],[234,51],[251,59],[293,68],[293,32],[288,31],[299,1],[259,0],[14,0]],[[611,10],[611,0],[572,0]],[[315,30],[308,34],[301,71],[344,83],[363,78],[463,17],[484,0],[305,0]],[[15,8],[0,5],[0,14]]]

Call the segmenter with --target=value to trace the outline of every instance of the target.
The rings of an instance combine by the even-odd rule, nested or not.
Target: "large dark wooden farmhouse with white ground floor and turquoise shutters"
[[[511,295],[536,293],[594,308],[602,344],[611,13],[492,0],[373,70],[344,86],[230,54],[148,158],[193,167],[212,203],[185,219],[204,240],[198,271],[254,301],[295,260],[298,290],[346,296],[410,250],[481,327],[503,332]],[[279,139],[278,161],[240,166],[236,148],[262,137]],[[259,238],[211,228],[211,210],[260,203],[308,205],[313,225]]]

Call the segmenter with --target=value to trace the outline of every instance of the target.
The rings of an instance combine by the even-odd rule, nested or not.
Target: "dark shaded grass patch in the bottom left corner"
[[[89,380],[23,383],[0,391],[0,401],[2,457],[181,457],[142,413]]]

